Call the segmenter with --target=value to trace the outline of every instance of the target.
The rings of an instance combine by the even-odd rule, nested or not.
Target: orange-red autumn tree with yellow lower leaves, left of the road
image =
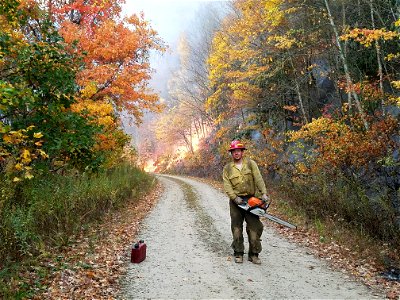
[[[129,140],[121,115],[130,114],[137,125],[145,111],[159,112],[163,107],[148,80],[150,52],[163,52],[164,44],[143,15],[121,16],[124,1],[44,3],[60,25],[69,51],[82,54],[77,102],[71,109],[102,127],[94,148],[107,152],[107,164],[113,164]]]

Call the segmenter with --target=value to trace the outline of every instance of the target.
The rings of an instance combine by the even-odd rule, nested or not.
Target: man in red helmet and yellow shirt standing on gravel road
[[[229,197],[231,216],[231,230],[233,236],[232,248],[236,263],[243,263],[244,240],[243,223],[246,221],[246,232],[249,240],[248,260],[261,264],[258,257],[261,252],[261,235],[264,229],[258,216],[238,207],[247,202],[250,197],[256,196],[268,202],[267,189],[256,162],[244,157],[246,150],[238,140],[231,142],[229,152],[232,162],[223,169],[224,190]]]

